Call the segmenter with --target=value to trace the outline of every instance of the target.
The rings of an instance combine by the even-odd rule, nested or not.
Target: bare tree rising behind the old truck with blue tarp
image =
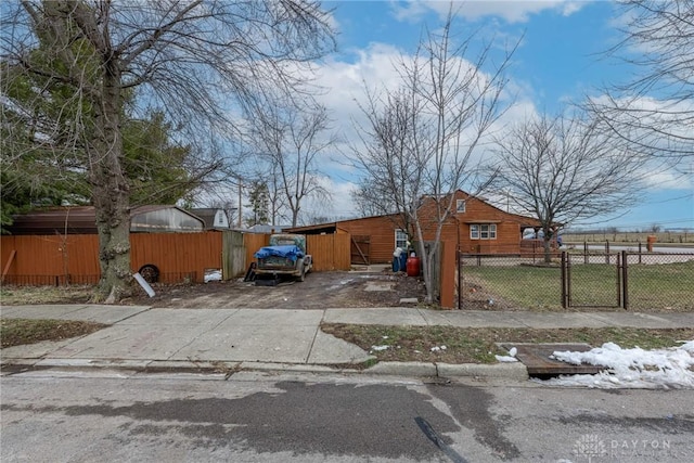
[[[305,198],[327,200],[330,193],[319,181],[319,156],[335,143],[330,130],[327,110],[321,105],[308,108],[288,103],[266,106],[254,113],[253,139],[262,146],[270,183],[290,210],[296,227]],[[275,197],[273,206],[281,204]],[[273,215],[274,217],[274,215]]]

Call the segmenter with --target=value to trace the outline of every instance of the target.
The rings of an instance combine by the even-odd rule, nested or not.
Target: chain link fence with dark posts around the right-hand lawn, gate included
[[[459,308],[694,310],[694,253],[459,254]]]

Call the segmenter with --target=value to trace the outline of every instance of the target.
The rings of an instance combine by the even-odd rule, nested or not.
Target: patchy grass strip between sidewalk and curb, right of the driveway
[[[613,342],[622,348],[674,347],[694,339],[694,329],[462,329],[453,326],[386,326],[326,323],[321,330],[370,351],[376,361],[494,363],[507,355],[497,343],[587,343],[593,347]],[[376,348],[374,348],[374,346]],[[387,346],[387,347],[383,347]],[[441,346],[446,346],[445,349]],[[432,350],[432,348],[438,349]]]

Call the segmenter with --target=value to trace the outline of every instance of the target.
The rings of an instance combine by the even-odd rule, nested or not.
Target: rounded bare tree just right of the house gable
[[[614,149],[594,119],[530,119],[497,144],[496,182],[517,209],[540,221],[548,262],[557,227],[614,213],[635,200],[639,158],[626,146]]]

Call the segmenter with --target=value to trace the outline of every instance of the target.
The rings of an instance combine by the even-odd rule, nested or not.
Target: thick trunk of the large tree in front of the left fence
[[[130,293],[130,206],[123,172],[120,73],[104,64],[102,100],[95,104],[94,146],[90,150],[92,198],[97,209],[101,280],[97,301],[115,304]]]

